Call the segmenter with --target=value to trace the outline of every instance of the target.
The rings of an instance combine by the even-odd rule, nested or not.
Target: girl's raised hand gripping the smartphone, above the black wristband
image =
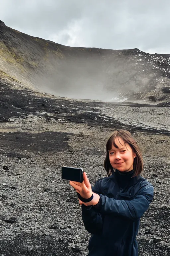
[[[83,182],[75,182],[70,181],[70,185],[75,188],[75,190],[80,194],[83,198],[90,198],[92,196],[92,187],[90,185],[90,182],[87,178],[87,175],[85,172],[83,172]]]

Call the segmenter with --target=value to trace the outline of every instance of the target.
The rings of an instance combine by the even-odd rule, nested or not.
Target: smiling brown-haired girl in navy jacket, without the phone
[[[138,256],[136,235],[141,216],[153,200],[153,186],[140,173],[141,151],[126,130],[115,130],[106,143],[104,167],[108,177],[91,187],[70,181],[82,207],[82,220],[92,234],[88,256]]]

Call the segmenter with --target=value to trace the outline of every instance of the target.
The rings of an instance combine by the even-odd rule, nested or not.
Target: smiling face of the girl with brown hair
[[[115,144],[118,148],[112,144],[112,148],[109,150],[109,160],[112,167],[120,172],[133,170],[133,160],[136,154],[133,153],[130,145],[125,144],[122,138],[116,138]]]

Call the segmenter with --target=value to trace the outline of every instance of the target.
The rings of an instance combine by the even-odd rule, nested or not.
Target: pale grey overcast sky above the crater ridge
[[[170,53],[169,0],[0,0],[0,20],[56,43]]]

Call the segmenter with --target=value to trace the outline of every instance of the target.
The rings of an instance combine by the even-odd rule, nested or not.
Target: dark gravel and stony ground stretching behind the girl
[[[0,82],[0,256],[87,256],[90,234],[63,165],[90,183],[106,177],[105,143],[129,130],[154,199],[142,216],[139,255],[170,255],[170,109],[117,106],[17,90]]]

